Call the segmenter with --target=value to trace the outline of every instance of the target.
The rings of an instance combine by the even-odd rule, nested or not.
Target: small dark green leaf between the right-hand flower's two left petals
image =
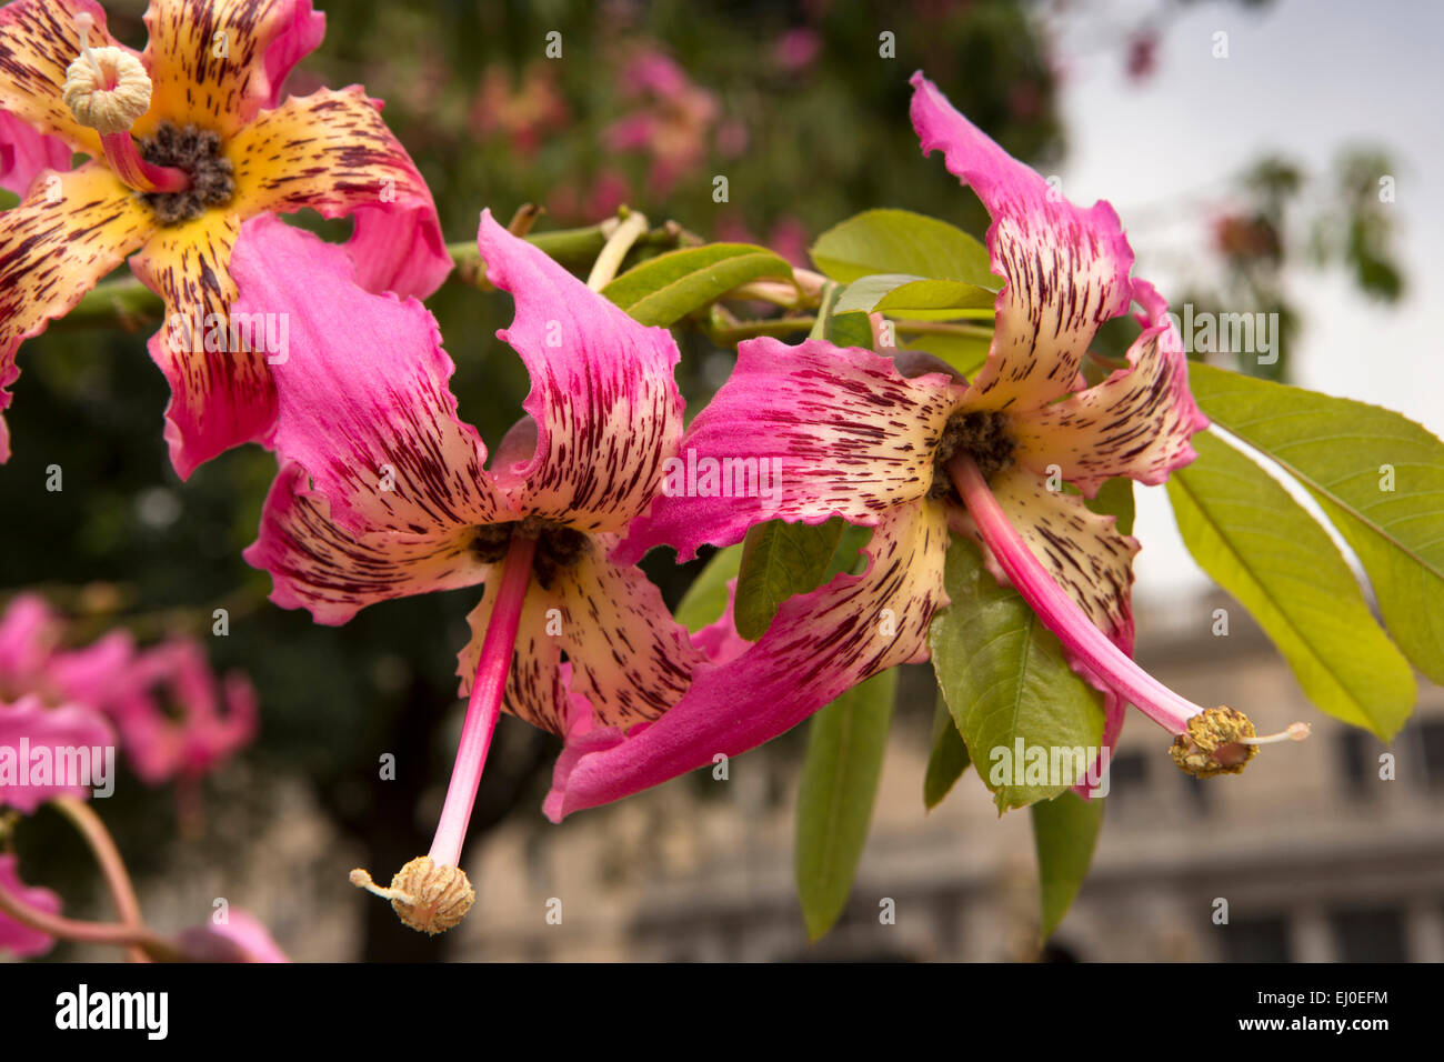
[[[843,526],[835,516],[816,526],[768,520],[747,532],[732,613],[738,634],[755,642],[767,633],[783,601],[823,584]]]

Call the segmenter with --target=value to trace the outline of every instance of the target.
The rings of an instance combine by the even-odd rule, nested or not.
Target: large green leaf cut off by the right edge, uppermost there
[[[1203,410],[1268,454],[1359,556],[1404,655],[1444,682],[1444,442],[1388,409],[1190,366]],[[1382,490],[1388,468],[1393,490]]]

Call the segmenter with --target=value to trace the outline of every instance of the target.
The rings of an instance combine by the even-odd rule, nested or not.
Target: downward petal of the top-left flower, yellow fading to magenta
[[[165,438],[182,480],[231,446],[266,439],[276,422],[264,344],[231,328],[240,233],[235,214],[211,211],[162,228],[130,260],[166,303],[166,324],[146,347],[170,383]]]

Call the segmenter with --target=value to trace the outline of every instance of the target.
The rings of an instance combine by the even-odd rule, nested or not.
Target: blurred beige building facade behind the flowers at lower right
[[[1227,636],[1212,634],[1216,608]],[[914,673],[849,907],[817,945],[793,886],[794,741],[736,757],[726,780],[699,772],[560,829],[488,837],[456,958],[1444,959],[1444,689],[1421,681],[1385,747],[1314,709],[1226,600],[1141,605],[1138,629],[1139,662],[1184,695],[1243,708],[1261,733],[1295,720],[1314,733],[1199,782],[1132,712],[1093,870],[1041,949],[1028,815],[999,819],[973,770],[924,812],[931,694]]]

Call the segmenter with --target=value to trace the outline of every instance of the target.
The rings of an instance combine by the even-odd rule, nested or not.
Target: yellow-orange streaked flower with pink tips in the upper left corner
[[[352,215],[348,249],[373,290],[429,295],[451,259],[378,101],[360,85],[282,100],[286,75],[323,35],[310,0],[153,0],[146,26],[137,53],[110,36],[92,0],[0,9],[9,123],[90,156],[39,172],[0,214],[0,412],[20,342],[139,250],[131,270],[165,301],[149,350],[170,383],[170,458],[188,477],[230,446],[264,441],[274,420],[269,363],[286,354],[284,322],[231,315],[230,260],[247,220],[302,207]],[[0,422],[0,461],[9,452]]]

